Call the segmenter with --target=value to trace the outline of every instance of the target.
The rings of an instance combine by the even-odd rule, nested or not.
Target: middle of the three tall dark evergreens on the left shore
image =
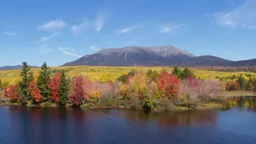
[[[38,89],[40,89],[42,94],[42,100],[46,102],[50,99],[50,89],[48,85],[51,81],[51,68],[47,67],[47,64],[44,62],[41,67],[41,71],[38,76]]]

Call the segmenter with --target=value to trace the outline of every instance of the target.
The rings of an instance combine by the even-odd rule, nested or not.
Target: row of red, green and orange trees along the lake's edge
[[[6,85],[4,95],[11,103],[21,105],[56,103],[59,106],[84,104],[95,107],[138,107],[169,109],[175,106],[196,107],[217,98],[219,81],[201,80],[189,68],[174,67],[171,73],[132,70],[117,81],[91,81],[88,76],[68,77],[66,71],[53,72],[42,64],[33,76],[23,63],[20,81]]]

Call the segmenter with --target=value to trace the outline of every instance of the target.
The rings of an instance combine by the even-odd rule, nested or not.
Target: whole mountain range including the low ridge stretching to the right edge
[[[126,46],[99,50],[64,66],[256,66],[256,59],[232,61],[212,55],[195,56],[174,46]]]

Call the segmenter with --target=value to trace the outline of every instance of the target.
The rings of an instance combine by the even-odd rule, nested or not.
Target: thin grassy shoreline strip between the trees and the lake
[[[223,91],[219,94],[222,98],[238,98],[238,97],[256,97],[256,93],[252,91]],[[225,110],[233,107],[234,103],[220,103],[220,102],[211,102],[211,103],[202,103],[196,107],[186,107],[186,106],[173,106],[171,108],[166,107],[152,107],[152,109],[144,109],[141,107],[133,106],[99,106],[93,103],[82,104],[79,107],[73,107],[72,104],[68,103],[65,106],[58,106],[56,103],[46,102],[40,103],[38,105],[28,103],[26,105],[21,105],[20,103],[0,103],[0,106],[17,106],[17,107],[73,107],[80,108],[83,110],[99,110],[99,109],[132,109],[132,110],[147,110],[147,111],[188,111],[188,110]]]

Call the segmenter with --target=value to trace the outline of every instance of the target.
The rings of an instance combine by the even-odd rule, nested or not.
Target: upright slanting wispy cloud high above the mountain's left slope
[[[104,27],[104,24],[108,19],[108,15],[109,15],[108,11],[97,12],[95,23],[93,24],[97,32],[99,32]]]

